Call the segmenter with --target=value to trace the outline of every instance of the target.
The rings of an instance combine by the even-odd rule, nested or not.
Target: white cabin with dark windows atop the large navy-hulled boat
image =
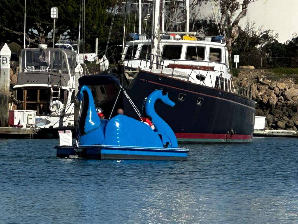
[[[213,42],[211,38],[210,41],[161,39],[160,55],[160,68],[156,68],[158,66],[151,63],[156,63],[151,56],[151,40],[143,38],[127,42],[122,59],[127,67],[232,91],[228,50],[224,41]]]

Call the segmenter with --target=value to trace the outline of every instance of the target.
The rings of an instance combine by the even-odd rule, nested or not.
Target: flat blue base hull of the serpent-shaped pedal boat
[[[138,160],[186,160],[188,149],[121,147],[121,146],[56,146],[57,157],[77,155],[86,159],[138,159]]]

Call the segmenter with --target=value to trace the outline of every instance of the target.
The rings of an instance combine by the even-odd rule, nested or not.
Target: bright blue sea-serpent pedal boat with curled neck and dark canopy
[[[129,98],[118,80],[110,75],[81,77],[80,85],[95,85],[114,82],[120,91]],[[81,81],[81,82],[80,82]],[[90,89],[79,87],[78,100],[82,102],[82,113],[77,127],[77,144],[74,147],[56,146],[57,157],[77,155],[88,159],[150,159],[150,160],[185,160],[188,149],[178,148],[177,139],[169,125],[154,110],[156,100],[174,106],[175,103],[164,90],[153,91],[145,101],[145,111],[152,118],[155,129],[136,119],[118,114],[111,119],[100,119],[96,113]],[[138,109],[130,101],[136,112]]]

